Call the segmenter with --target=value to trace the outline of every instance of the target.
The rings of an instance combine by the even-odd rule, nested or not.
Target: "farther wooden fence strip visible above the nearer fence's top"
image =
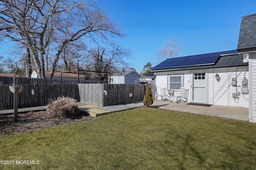
[[[0,76],[0,84],[11,84],[13,77]],[[40,79],[19,77],[20,84],[60,84],[60,79]],[[90,80],[79,79],[79,83],[90,84]],[[92,80],[92,83],[108,83],[108,81]],[[77,84],[77,79],[62,79],[62,84]]]

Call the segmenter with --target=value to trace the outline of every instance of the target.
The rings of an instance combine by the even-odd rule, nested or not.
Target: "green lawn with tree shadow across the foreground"
[[[256,124],[142,107],[2,136],[0,160],[15,163],[0,169],[253,170]]]

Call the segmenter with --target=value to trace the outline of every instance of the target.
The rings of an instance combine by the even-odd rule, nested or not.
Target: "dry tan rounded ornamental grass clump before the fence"
[[[52,118],[76,118],[80,115],[80,111],[75,99],[63,96],[49,101],[46,114]]]

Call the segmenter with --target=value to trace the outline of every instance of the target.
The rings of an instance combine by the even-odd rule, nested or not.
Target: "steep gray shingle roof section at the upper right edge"
[[[237,51],[256,50],[256,14],[242,16]]]

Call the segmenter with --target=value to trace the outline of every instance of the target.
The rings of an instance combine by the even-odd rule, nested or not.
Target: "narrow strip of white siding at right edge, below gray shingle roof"
[[[256,122],[256,53],[249,53],[249,121]]]

